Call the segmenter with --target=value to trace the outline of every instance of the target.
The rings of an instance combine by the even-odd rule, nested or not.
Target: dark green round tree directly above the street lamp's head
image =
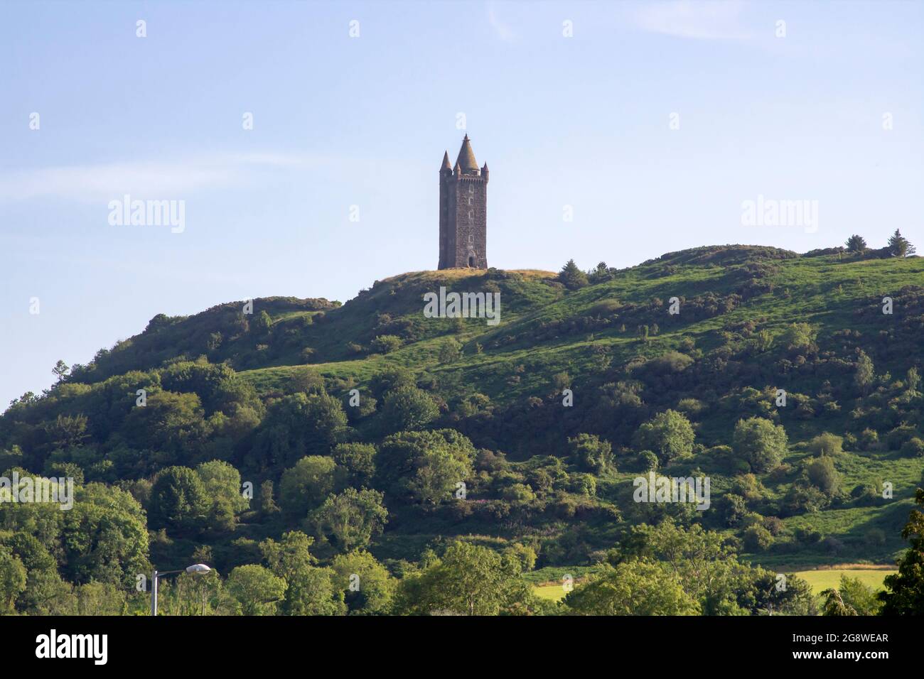
[[[154,479],[149,517],[152,527],[195,535],[206,526],[212,504],[199,474],[188,467],[167,467]]]

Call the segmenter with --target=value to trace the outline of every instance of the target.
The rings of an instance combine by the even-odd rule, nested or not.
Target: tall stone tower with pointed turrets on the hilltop
[[[440,167],[440,269],[488,268],[488,164],[479,170],[468,135]]]

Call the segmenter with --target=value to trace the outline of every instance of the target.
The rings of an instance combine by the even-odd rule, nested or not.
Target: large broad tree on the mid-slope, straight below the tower
[[[379,449],[376,487],[409,500],[448,500],[456,483],[471,478],[475,448],[456,430],[402,431]]]

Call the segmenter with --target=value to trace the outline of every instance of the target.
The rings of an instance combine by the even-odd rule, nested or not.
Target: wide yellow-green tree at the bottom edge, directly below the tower
[[[398,609],[414,615],[529,614],[538,602],[517,559],[456,540],[419,575],[401,581]]]

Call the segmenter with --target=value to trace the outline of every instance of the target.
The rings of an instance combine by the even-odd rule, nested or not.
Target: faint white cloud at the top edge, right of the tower
[[[742,22],[743,4],[728,2],[673,2],[645,5],[635,13],[638,28],[691,40],[748,40]]]

